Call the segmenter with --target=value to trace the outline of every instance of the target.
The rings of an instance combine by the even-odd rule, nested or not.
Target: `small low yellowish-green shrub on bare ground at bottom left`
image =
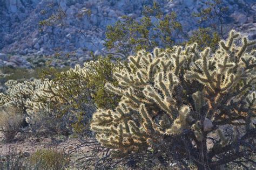
[[[56,149],[41,149],[29,158],[29,164],[35,169],[65,169],[69,165],[69,157]]]

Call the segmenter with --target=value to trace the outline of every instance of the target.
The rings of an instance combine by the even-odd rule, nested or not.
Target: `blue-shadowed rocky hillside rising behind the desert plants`
[[[224,32],[235,29],[256,38],[256,2],[254,0],[223,0],[228,6],[228,17],[225,18]],[[71,28],[47,27],[39,31],[38,22],[51,15],[59,6],[66,12],[66,21],[76,28],[82,29],[81,36]],[[144,5],[152,0],[0,0],[0,52],[19,55],[52,54],[56,50],[77,51],[84,56],[81,61],[89,59],[89,51],[99,53],[104,49],[104,31],[107,25],[114,24],[123,15],[133,18],[142,16]],[[157,1],[168,13],[176,11],[178,20],[185,32],[197,28],[197,19],[191,17],[192,12],[206,8],[202,1],[173,0]],[[83,9],[90,9],[89,18],[77,18]],[[93,44],[91,43],[93,42]],[[0,59],[0,66],[4,63]],[[23,62],[25,63],[25,61]],[[28,65],[28,63],[26,63]]]

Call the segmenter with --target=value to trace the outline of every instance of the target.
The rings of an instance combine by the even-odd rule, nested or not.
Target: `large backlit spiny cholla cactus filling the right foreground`
[[[106,84],[122,98],[97,110],[92,131],[117,157],[153,148],[202,169],[245,158],[241,147],[255,152],[254,44],[231,31],[214,53],[197,44],[139,51],[114,73],[119,86]]]

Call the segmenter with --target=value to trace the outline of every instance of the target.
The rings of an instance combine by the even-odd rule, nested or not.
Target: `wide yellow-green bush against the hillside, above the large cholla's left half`
[[[178,35],[178,36],[177,36]],[[123,16],[114,25],[107,26],[105,47],[126,58],[140,49],[152,51],[154,47],[170,48],[185,37],[176,12],[165,13],[154,2],[144,6],[140,20]]]

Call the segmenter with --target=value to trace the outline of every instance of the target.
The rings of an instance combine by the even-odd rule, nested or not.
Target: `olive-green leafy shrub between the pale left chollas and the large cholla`
[[[43,77],[51,79],[56,94],[63,99],[63,102],[50,107],[55,110],[56,116],[71,113],[73,131],[90,134],[88,122],[96,108],[113,108],[119,101],[117,95],[105,90],[104,84],[117,82],[112,75],[114,70],[121,67],[119,62],[113,62],[111,58],[99,57],[95,61],[85,62],[83,67],[77,65],[68,72],[56,73],[55,70],[44,72]]]

